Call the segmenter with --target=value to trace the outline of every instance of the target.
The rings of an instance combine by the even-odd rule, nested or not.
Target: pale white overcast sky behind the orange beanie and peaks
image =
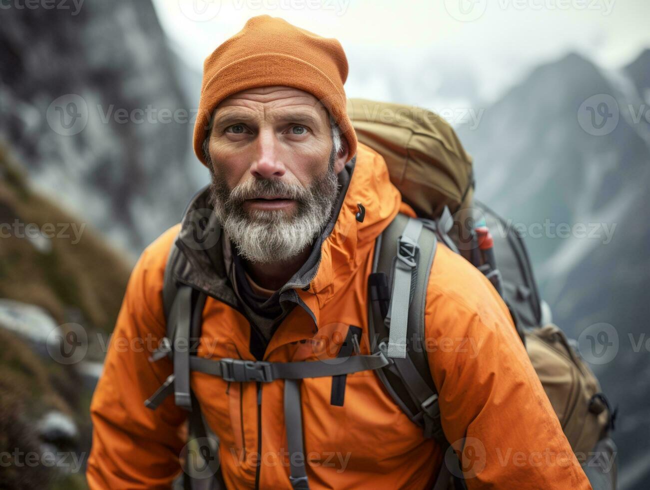
[[[390,87],[395,80],[421,77],[428,92],[464,90],[467,97],[489,101],[532,66],[569,51],[604,68],[619,68],[650,47],[650,0],[154,0],[154,4],[172,47],[196,70],[218,44],[260,14],[335,37],[350,63],[348,97],[389,100],[398,97]],[[394,102],[435,105],[422,100]]]

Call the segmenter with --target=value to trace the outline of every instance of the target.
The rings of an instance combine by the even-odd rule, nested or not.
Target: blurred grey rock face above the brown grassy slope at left
[[[0,139],[34,184],[133,257],[205,182],[149,1],[2,10]]]

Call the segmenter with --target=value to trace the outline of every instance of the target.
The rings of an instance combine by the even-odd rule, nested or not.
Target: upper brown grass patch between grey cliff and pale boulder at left
[[[0,223],[12,225],[81,221],[55,203],[34,193],[27,181],[0,147]],[[52,238],[51,251],[43,253],[29,239],[0,238],[0,297],[42,306],[59,323],[70,321],[68,313],[78,309],[97,329],[112,331],[129,277],[127,260],[116,254],[99,235],[86,226],[79,243],[72,228],[70,238]],[[3,233],[3,235],[6,235]]]

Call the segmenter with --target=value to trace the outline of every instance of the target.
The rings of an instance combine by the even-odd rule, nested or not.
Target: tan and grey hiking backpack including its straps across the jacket
[[[174,352],[179,340],[190,345],[199,338],[205,293],[192,290],[174,279],[183,267],[183,254],[172,246],[164,275],[163,304],[167,333],[150,360],[169,356],[174,374],[145,402],[155,409],[170,394],[175,403],[190,410],[188,455],[183,487],[226,488],[220,470],[210,471],[209,462],[218,455],[214,433],[204,424],[200,407],[190,390],[190,370],[198,370],[231,381],[257,383],[285,379],[285,418],[289,452],[304,454],[300,424],[300,389],[305,377],[332,376],[332,403],[340,396],[345,375],[374,370],[396,404],[425,437],[433,437],[448,448],[434,488],[464,488],[459,461],[446,441],[441,426],[437,390],[432,380],[424,344],[426,284],[435,254],[442,241],[482,271],[500,293],[512,315],[519,336],[556,411],[562,429],[583,463],[594,489],[616,488],[616,465],[601,463],[616,455],[610,437],[615,411],[601,393],[588,365],[564,333],[552,323],[551,311],[539,295],[523,239],[492,210],[473,201],[472,160],[456,133],[439,116],[406,105],[352,99],[348,115],[357,138],[384,157],[391,182],[418,217],[398,214],[376,239],[369,287],[369,336],[372,354],[360,355],[361,329],[350,326],[339,357],[344,362],[242,361],[201,359],[196,350]],[[361,217],[363,219],[363,217]],[[489,230],[498,233],[491,234]],[[356,355],[352,355],[355,352]],[[343,400],[340,400],[343,403]],[[192,441],[201,447],[192,448]],[[456,448],[458,449],[458,448]],[[190,454],[194,465],[188,465]],[[582,460],[580,460],[582,457]],[[308,489],[304,458],[291,459],[290,481],[294,489]],[[205,473],[196,474],[200,467]],[[209,476],[210,478],[206,478]]]

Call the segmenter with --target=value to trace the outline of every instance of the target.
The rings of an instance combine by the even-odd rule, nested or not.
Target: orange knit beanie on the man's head
[[[343,83],[348,60],[341,43],[268,15],[253,17],[218,46],[203,64],[201,100],[194,124],[194,153],[205,165],[203,140],[215,107],[232,94],[254,87],[285,85],[313,94],[348,141],[348,159],[357,136],[346,111]]]

